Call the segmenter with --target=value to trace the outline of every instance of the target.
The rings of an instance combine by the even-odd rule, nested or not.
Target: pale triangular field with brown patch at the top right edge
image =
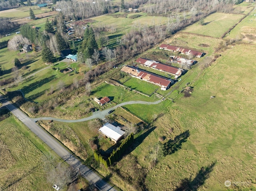
[[[251,7],[250,7],[251,9]],[[226,35],[225,39],[241,40],[246,43],[256,44],[256,10],[251,12],[249,16],[244,18],[229,34]]]

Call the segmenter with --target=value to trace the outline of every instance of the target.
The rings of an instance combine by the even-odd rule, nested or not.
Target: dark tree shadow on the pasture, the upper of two
[[[190,136],[189,130],[186,130],[182,134],[176,136],[174,140],[170,139],[164,143],[163,151],[164,156],[174,154],[176,151],[181,149],[182,143],[186,142]]]

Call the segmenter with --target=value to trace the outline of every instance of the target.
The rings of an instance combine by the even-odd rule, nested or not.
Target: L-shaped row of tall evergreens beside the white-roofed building
[[[108,166],[112,165],[114,162],[118,161],[118,159],[124,154],[124,152],[132,144],[133,140],[134,140],[134,136],[132,133],[122,142],[122,144],[116,150],[113,150],[113,152],[111,153],[111,155],[108,157],[107,160],[105,160],[97,150],[94,151],[94,158],[96,159],[96,161],[99,161],[100,163],[104,164],[105,167],[107,168]]]

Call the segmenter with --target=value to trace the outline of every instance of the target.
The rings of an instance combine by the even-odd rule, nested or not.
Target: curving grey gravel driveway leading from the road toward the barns
[[[82,122],[82,121],[88,121],[91,119],[96,119],[96,118],[100,118],[100,119],[104,119],[107,115],[108,112],[110,110],[114,110],[120,106],[124,106],[124,105],[128,105],[128,104],[147,104],[147,105],[151,105],[151,104],[158,104],[160,103],[162,100],[158,100],[155,102],[146,102],[146,101],[128,101],[128,102],[124,102],[124,103],[120,103],[112,108],[108,108],[106,110],[103,111],[96,111],[94,112],[91,116],[86,117],[86,118],[82,118],[82,119],[74,119],[74,120],[66,120],[66,119],[59,119],[59,118],[53,118],[53,117],[39,117],[39,118],[31,118],[31,120],[34,121],[38,121],[38,120],[54,120],[54,121],[60,121],[60,122],[67,122],[67,123],[74,123],[74,122]]]

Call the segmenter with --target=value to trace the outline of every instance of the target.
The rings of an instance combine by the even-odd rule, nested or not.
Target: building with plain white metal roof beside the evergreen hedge
[[[119,126],[114,126],[110,123],[105,123],[100,129],[99,132],[110,138],[112,141],[117,143],[123,137],[125,132],[121,130]]]

